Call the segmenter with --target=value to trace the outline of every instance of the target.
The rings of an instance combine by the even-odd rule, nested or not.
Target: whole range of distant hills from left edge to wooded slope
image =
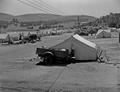
[[[14,16],[10,14],[0,13],[0,21],[10,21],[13,18],[16,18],[20,21],[26,22],[35,22],[35,21],[76,21],[77,15],[74,16],[62,16],[62,15],[54,15],[54,14],[24,14],[19,16]],[[92,16],[80,15],[80,21],[87,22],[96,19]]]

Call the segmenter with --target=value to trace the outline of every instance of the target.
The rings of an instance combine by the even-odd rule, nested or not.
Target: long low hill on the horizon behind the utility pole
[[[62,15],[53,15],[53,14],[25,14],[16,16],[17,18],[21,19],[22,21],[62,21],[62,22],[69,22],[69,21],[76,21],[77,15],[75,16],[62,16]],[[96,19],[92,16],[87,15],[80,15],[80,21],[87,22]]]

